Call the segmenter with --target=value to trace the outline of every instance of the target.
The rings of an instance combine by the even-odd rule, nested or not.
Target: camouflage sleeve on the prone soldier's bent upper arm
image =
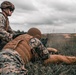
[[[41,57],[43,60],[47,59],[49,57],[49,52],[44,47],[42,42],[38,40],[37,38],[32,38],[30,40],[30,46],[33,49],[35,49],[35,52],[38,54],[39,57]]]

